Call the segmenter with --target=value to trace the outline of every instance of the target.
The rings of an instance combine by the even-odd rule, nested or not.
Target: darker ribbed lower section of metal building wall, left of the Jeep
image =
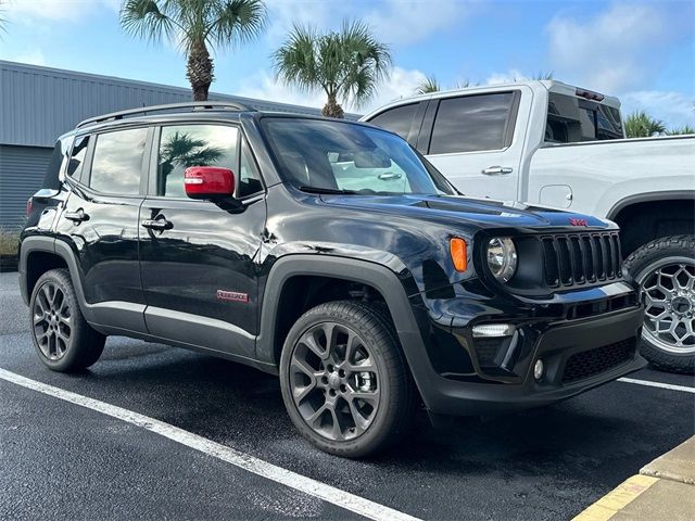
[[[39,188],[53,149],[0,145],[0,228],[18,231],[26,201]]]

